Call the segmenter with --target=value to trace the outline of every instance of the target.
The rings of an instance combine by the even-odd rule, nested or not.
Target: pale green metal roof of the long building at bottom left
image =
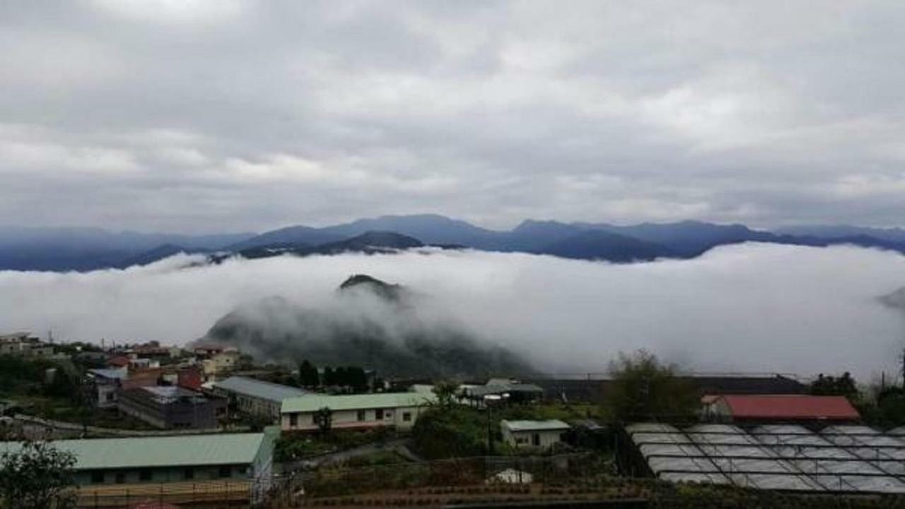
[[[250,464],[264,445],[263,433],[178,437],[56,440],[53,446],[76,457],[77,470],[104,468],[195,467]],[[0,442],[0,454],[20,442]]]

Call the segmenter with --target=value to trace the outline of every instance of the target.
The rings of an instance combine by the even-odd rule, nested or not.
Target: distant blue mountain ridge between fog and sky
[[[689,259],[715,247],[748,241],[824,247],[853,244],[905,253],[905,230],[851,225],[803,225],[776,231],[699,221],[600,222],[526,220],[496,231],[438,214],[386,215],[322,228],[289,226],[260,234],[167,235],[91,228],[0,228],[0,270],[93,270],[144,265],[178,252],[266,258],[354,251],[394,252],[422,246],[527,252],[614,262]]]

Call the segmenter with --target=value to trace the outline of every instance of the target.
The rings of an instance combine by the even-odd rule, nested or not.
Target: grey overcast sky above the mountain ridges
[[[905,5],[0,2],[0,223],[905,217]]]

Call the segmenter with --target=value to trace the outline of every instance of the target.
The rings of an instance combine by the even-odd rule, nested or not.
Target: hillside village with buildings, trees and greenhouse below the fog
[[[680,373],[643,352],[605,374],[505,374],[384,378],[367,366],[262,365],[216,344],[5,334],[0,454],[48,444],[71,455],[78,507],[842,495],[881,507],[905,493],[895,383]]]

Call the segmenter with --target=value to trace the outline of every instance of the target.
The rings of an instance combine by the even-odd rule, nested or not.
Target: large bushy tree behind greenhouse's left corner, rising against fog
[[[619,353],[610,363],[610,374],[613,382],[606,401],[616,420],[687,418],[699,407],[691,383],[645,350]]]

